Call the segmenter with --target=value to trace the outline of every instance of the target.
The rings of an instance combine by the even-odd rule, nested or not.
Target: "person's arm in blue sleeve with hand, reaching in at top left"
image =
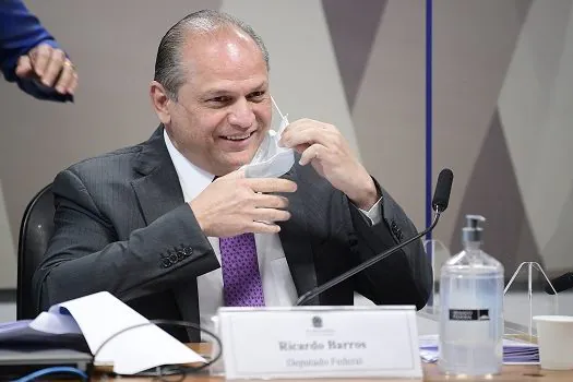
[[[0,0],[0,65],[7,81],[38,99],[73,102],[75,68],[20,0]]]

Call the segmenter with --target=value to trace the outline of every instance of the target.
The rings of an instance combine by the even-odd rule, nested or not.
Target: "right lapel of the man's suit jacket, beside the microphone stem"
[[[296,167],[293,167],[282,178],[296,182],[298,180]],[[309,219],[303,203],[303,191],[301,191],[303,189],[299,188],[297,192],[285,194],[289,201],[288,211],[291,217],[286,222],[278,223],[280,226],[278,235],[299,296],[317,287],[317,272],[308,234]],[[315,297],[309,305],[319,305],[319,298]]]

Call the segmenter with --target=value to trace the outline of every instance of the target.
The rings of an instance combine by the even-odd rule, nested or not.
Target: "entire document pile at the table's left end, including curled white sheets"
[[[106,342],[122,331],[126,332]],[[162,365],[206,362],[107,291],[58,303],[35,320],[0,324],[0,348],[31,344],[76,348],[71,345],[79,343],[92,355],[97,353],[95,365],[114,365],[114,371],[120,374],[134,374]]]

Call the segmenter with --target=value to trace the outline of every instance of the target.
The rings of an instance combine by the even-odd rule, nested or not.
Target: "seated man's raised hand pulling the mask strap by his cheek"
[[[359,208],[368,211],[380,199],[374,181],[334,126],[299,119],[285,129],[279,144],[295,148],[300,165],[310,163]]]

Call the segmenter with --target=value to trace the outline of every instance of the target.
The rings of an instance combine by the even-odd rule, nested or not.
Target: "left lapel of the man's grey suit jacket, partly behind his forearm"
[[[163,127],[159,127],[143,144],[135,170],[141,177],[133,180],[131,186],[138,196],[146,225],[184,203],[177,171],[165,146]],[[190,283],[174,288],[174,296],[182,319],[200,322],[195,280],[190,279]],[[199,339],[196,331],[188,331],[188,333],[192,341]]]

